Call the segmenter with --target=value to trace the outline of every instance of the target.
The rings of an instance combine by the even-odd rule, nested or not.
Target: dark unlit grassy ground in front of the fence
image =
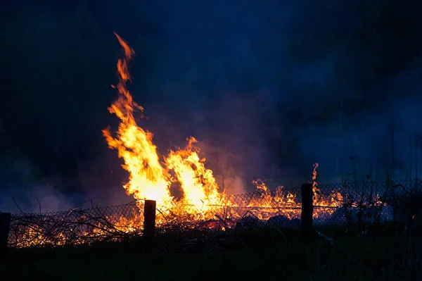
[[[150,258],[141,242],[12,249],[0,279],[422,280],[421,227],[391,224],[366,235],[333,229],[320,233],[326,237],[305,240],[297,232],[279,230],[237,233],[214,246],[160,248]]]

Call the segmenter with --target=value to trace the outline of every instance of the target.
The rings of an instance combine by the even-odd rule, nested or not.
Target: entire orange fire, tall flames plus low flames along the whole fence
[[[41,230],[37,225],[19,229],[16,246],[34,246],[40,244],[73,244],[89,243],[93,239],[106,237],[110,233],[133,233],[142,229],[143,226],[143,199],[152,199],[157,202],[160,216],[157,217],[158,225],[165,223],[180,223],[203,221],[208,227],[217,227],[226,230],[234,227],[236,220],[252,214],[260,220],[268,220],[273,216],[283,216],[290,220],[300,218],[300,200],[295,192],[290,192],[277,187],[270,192],[262,180],[254,180],[252,183],[257,187],[257,193],[248,196],[228,196],[220,192],[212,170],[206,168],[205,158],[200,157],[200,150],[195,146],[196,139],[187,139],[184,149],[170,150],[167,156],[160,156],[157,146],[153,144],[153,133],[143,130],[136,123],[135,113],[143,113],[143,107],[136,104],[127,89],[127,82],[131,81],[129,63],[134,56],[127,42],[115,33],[124,51],[124,57],[117,61],[117,75],[119,82],[113,86],[118,91],[118,98],[108,108],[108,111],[120,119],[117,132],[112,135],[110,127],[103,130],[103,136],[110,149],[116,149],[118,157],[122,158],[122,168],[129,172],[129,180],[123,185],[127,194],[137,200],[137,209],[132,216],[114,214],[106,216],[105,220],[91,224],[91,228],[82,231],[82,236],[77,237],[72,229],[54,232],[51,236],[49,230]],[[335,208],[341,206],[343,197],[339,192],[321,194],[316,182],[316,169],[312,170],[312,190],[314,192],[314,218],[331,215]],[[174,196],[172,186],[177,185],[181,195]],[[323,210],[323,211],[321,211]],[[84,220],[79,216],[78,220]],[[216,219],[218,218],[218,220]],[[62,220],[60,220],[60,223]],[[75,226],[77,227],[77,226]],[[191,226],[195,227],[195,226]],[[76,231],[76,230],[75,230]],[[46,235],[48,234],[48,235]],[[53,241],[51,238],[53,237]]]

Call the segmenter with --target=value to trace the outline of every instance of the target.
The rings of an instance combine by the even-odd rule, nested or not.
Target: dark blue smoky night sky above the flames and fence
[[[210,166],[231,161],[241,182],[288,186],[314,162],[327,182],[354,168],[385,180],[392,163],[410,176],[421,1],[6,0],[0,11],[4,194],[63,208],[122,189],[101,135],[117,125],[113,31],[136,52],[129,89],[163,154],[193,135]]]

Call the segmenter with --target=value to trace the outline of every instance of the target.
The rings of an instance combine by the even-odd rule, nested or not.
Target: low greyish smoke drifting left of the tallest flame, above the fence
[[[99,162],[106,163],[106,161]],[[122,188],[122,173],[104,173],[98,163],[80,163],[77,187],[60,175],[40,178],[27,159],[15,159],[1,169],[0,211],[39,213],[125,204],[134,200]],[[120,168],[120,167],[119,167]],[[120,170],[120,169],[119,169]],[[76,190],[76,191],[73,191]]]

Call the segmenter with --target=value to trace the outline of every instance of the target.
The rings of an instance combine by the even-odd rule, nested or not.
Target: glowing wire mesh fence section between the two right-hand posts
[[[174,202],[158,208],[158,230],[219,232],[269,225],[300,226],[300,187],[238,194],[217,204]]]

